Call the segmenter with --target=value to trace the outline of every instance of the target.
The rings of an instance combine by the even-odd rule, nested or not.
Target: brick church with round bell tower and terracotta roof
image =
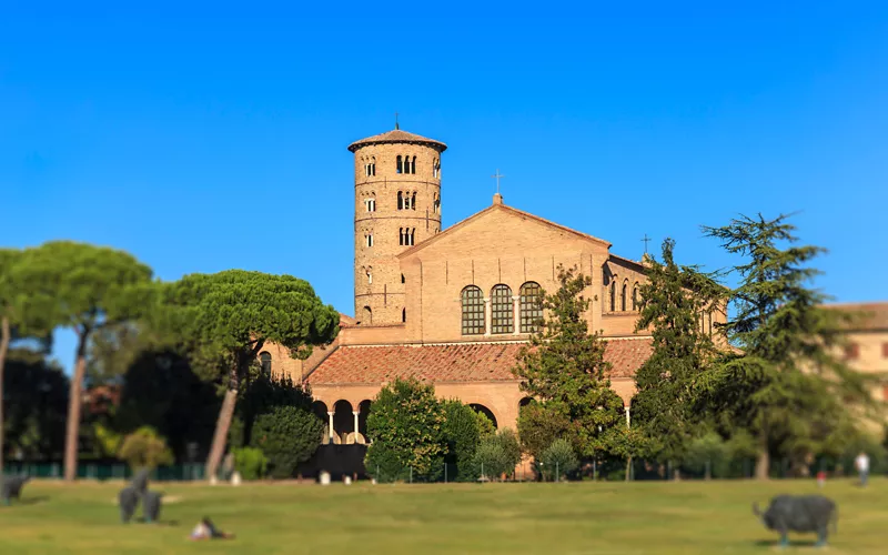
[[[526,402],[512,374],[535,331],[541,289],[557,289],[558,264],[592,276],[589,330],[601,330],[612,387],[626,405],[649,356],[635,332],[645,266],[610,243],[505,204],[442,229],[446,144],[400,129],[355,141],[354,314],[333,344],[296,361],[275,346],[260,354],[275,374],[311,385],[326,440],[364,443],[371,400],[397,377],[416,377],[514,427]],[[703,325],[712,330],[712,319]],[[708,320],[707,320],[708,319]]]

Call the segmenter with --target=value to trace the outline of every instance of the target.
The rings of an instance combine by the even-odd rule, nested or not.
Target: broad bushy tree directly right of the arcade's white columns
[[[380,481],[434,480],[442,471],[447,441],[445,412],[435,390],[416,380],[395,380],[373,401],[367,416],[364,466]],[[379,472],[376,470],[379,468]]]

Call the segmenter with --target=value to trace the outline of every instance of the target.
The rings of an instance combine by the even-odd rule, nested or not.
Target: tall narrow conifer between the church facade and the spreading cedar
[[[705,411],[694,384],[717,355],[700,324],[702,315],[723,312],[724,287],[695,266],[679,266],[675,241],[663,242],[663,262],[647,259],[647,282],[639,293],[635,330],[652,330],[653,352],[635,374],[633,424],[656,438],[665,458],[680,458]]]

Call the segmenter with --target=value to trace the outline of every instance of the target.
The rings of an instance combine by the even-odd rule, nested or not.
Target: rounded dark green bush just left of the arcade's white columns
[[[309,410],[275,406],[256,417],[251,440],[268,457],[271,476],[289,478],[317,451],[323,433],[323,422]]]

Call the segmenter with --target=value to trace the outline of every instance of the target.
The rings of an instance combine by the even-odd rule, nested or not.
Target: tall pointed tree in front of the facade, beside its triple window
[[[558,283],[555,294],[545,295],[541,331],[531,336],[513,372],[522,381],[522,391],[563,407],[574,423],[572,443],[592,456],[607,451],[604,432],[623,421],[623,401],[606,377],[609,364],[604,360],[604,342],[588,332],[589,301],[582,293],[592,280],[559,265]]]

